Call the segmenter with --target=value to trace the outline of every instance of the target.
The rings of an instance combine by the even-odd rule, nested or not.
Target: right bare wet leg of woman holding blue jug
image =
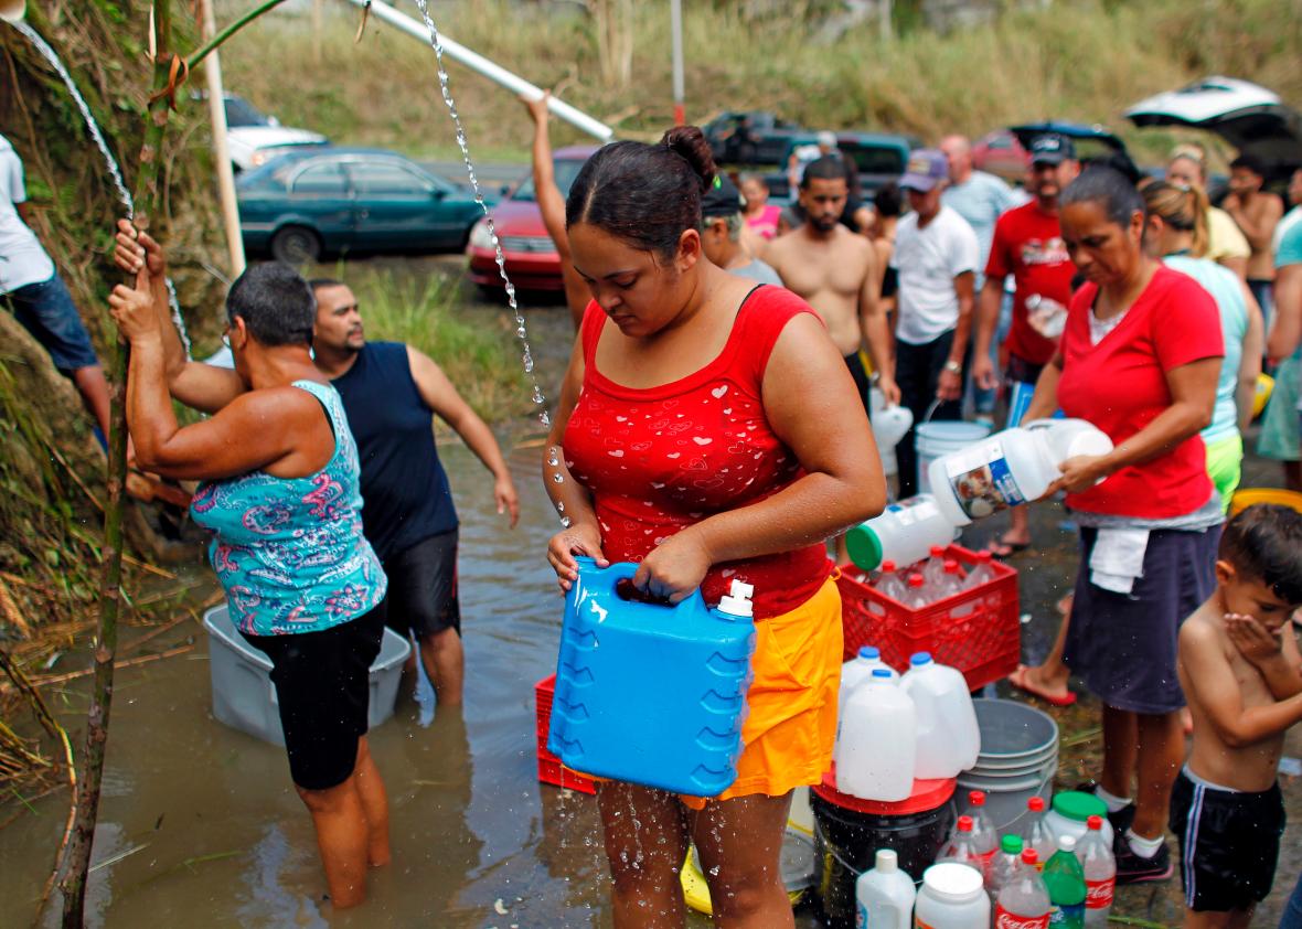
[[[796,925],[779,865],[790,807],[790,794],[756,794],[707,804],[697,815],[693,839],[710,885],[716,926]]]

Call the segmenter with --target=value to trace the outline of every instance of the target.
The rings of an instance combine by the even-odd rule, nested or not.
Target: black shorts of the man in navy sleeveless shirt
[[[404,639],[457,630],[461,635],[461,601],[457,599],[457,530],[422,539],[384,561],[389,578],[389,628]]]

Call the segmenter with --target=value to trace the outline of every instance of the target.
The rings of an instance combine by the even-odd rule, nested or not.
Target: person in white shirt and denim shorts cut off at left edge
[[[0,135],[0,303],[40,342],[81,392],[102,437],[108,436],[108,383],[72,294],[25,222],[22,161]]]

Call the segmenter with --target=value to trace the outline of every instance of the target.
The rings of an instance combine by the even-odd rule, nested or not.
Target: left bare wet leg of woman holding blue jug
[[[596,790],[616,929],[680,929],[687,820],[673,794],[609,782]]]

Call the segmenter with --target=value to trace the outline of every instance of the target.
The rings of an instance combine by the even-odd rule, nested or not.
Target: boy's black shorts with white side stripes
[[[1180,772],[1170,831],[1180,839],[1180,882],[1194,911],[1249,909],[1271,893],[1284,835],[1280,785],[1260,792],[1198,783]]]

